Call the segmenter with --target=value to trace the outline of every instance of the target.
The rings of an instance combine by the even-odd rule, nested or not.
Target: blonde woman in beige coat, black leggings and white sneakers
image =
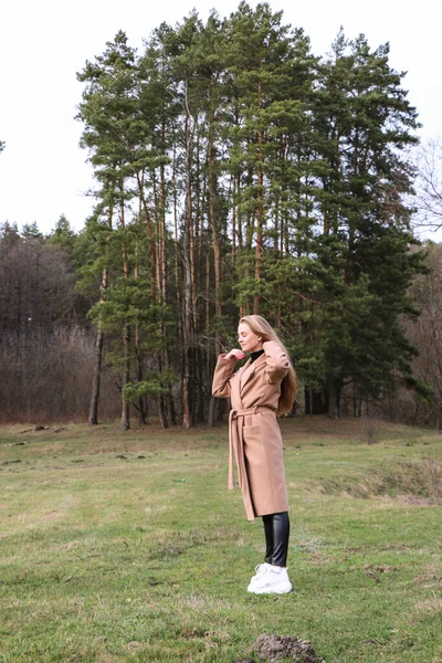
[[[233,488],[233,454],[239,485],[249,520],[262,516],[265,561],[255,569],[248,591],[287,593],[290,536],[287,487],[283,443],[276,414],[292,410],[296,377],[288,354],[267,320],[246,315],[238,327],[240,349],[220,355],[212,393],[231,398],[229,417],[229,488]],[[236,361],[250,352],[246,364],[234,371]]]

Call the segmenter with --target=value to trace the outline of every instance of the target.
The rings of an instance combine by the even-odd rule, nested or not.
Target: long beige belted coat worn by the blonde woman
[[[220,355],[213,375],[212,393],[231,398],[229,418],[229,488],[233,488],[233,455],[238,467],[245,513],[255,516],[288,509],[283,442],[276,420],[281,381],[290,361],[274,341],[263,344],[264,354],[233,372],[235,359]]]

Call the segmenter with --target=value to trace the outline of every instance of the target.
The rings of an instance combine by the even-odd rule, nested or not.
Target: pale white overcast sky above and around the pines
[[[256,2],[250,1],[252,7]],[[340,25],[364,33],[371,49],[390,43],[390,65],[407,72],[403,87],[418,108],[422,138],[442,136],[442,0],[273,0],[283,23],[303,28],[315,55],[329,51]],[[124,30],[129,45],[161,22],[175,25],[192,9],[204,21],[239,0],[14,0],[0,7],[0,223],[36,222],[49,233],[64,214],[76,231],[94,200],[87,154],[74,119],[82,84],[76,72]],[[441,238],[438,241],[442,241]]]

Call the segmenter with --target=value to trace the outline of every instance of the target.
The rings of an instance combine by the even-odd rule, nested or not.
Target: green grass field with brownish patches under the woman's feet
[[[0,662],[215,662],[261,633],[327,663],[442,663],[442,435],[282,422],[291,594],[252,596],[260,519],[227,428],[0,428]]]

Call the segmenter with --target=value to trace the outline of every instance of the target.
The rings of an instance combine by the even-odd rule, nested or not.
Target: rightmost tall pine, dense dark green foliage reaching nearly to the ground
[[[414,240],[402,202],[411,189],[402,152],[415,141],[417,112],[388,53],[388,45],[371,52],[364,35],[348,42],[340,32],[319,70],[314,126],[324,170],[313,248],[327,278],[318,296],[317,380],[332,415],[345,383],[360,398],[380,396],[396,370],[410,370],[414,354],[398,320],[412,313],[407,288],[422,269],[419,252],[409,251]]]

